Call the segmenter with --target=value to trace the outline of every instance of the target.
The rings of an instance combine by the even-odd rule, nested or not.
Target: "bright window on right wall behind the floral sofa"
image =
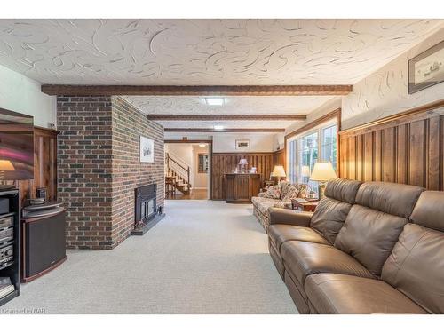
[[[310,181],[314,164],[319,160],[330,161],[337,169],[337,125],[325,123],[313,131],[289,139],[289,181],[305,183],[318,191],[318,183]]]

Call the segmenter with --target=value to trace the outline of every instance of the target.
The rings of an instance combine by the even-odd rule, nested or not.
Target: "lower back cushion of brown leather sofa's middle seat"
[[[407,218],[355,204],[337,234],[335,247],[356,258],[372,274],[380,275],[407,223]]]

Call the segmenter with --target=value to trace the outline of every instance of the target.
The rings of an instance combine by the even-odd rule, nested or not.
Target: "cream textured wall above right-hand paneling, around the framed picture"
[[[342,128],[394,115],[413,107],[444,99],[444,83],[408,94],[408,59],[443,40],[444,28],[392,60],[385,67],[353,85],[353,92],[343,98]]]

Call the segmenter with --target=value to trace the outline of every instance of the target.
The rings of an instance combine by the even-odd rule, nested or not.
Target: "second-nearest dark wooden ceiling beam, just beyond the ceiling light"
[[[271,121],[271,120],[305,120],[306,115],[147,115],[148,120],[154,121]]]

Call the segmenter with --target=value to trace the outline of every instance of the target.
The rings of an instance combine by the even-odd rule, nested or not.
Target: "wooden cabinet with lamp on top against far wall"
[[[259,194],[260,175],[254,173],[226,173],[225,185],[227,203],[250,203],[251,197]]]

